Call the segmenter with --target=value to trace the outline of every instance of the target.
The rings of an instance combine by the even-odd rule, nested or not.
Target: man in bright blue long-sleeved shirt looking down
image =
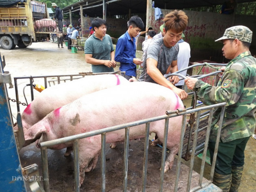
[[[120,70],[125,71],[125,78],[136,77],[136,65],[141,65],[142,60],[136,58],[135,37],[144,28],[143,21],[138,16],[133,16],[128,22],[128,30],[121,35],[115,47],[115,61],[120,62]]]

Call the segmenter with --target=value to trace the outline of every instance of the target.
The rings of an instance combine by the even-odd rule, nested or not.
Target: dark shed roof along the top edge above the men
[[[155,7],[160,9],[188,9],[202,6],[216,6],[223,4],[225,0],[155,0]],[[82,0],[75,4],[63,8],[63,13],[80,12],[80,5],[83,7],[83,13],[91,17],[102,16],[103,0]],[[105,0],[106,15],[124,15],[129,13],[146,13],[147,0]],[[256,0],[236,0],[237,3],[256,2]]]

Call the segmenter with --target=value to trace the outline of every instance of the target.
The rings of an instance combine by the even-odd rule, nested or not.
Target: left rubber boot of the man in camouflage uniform
[[[223,190],[223,192],[229,192],[231,185],[232,175],[220,175],[214,172],[213,175],[213,184]]]

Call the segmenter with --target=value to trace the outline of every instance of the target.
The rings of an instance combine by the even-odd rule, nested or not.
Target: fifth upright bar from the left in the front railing
[[[150,123],[146,123],[146,132],[145,132],[145,143],[144,143],[144,157],[143,157],[143,175],[142,175],[142,190],[141,192],[146,191],[147,183],[147,169],[148,169],[148,145],[149,145],[149,133],[150,133]]]

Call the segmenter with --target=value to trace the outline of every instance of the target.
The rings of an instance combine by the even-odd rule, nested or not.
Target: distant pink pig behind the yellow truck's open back
[[[34,28],[37,32],[54,32],[56,22],[52,19],[39,19],[35,21]]]

